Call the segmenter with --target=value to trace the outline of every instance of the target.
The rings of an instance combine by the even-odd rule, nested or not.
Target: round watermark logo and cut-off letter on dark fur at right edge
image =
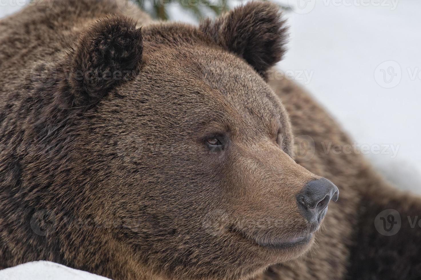
[[[421,229],[421,217],[419,216],[406,216],[409,227]],[[384,236],[392,236],[397,234],[402,227],[402,217],[395,209],[386,209],[378,213],[374,219],[374,226],[378,233]]]

